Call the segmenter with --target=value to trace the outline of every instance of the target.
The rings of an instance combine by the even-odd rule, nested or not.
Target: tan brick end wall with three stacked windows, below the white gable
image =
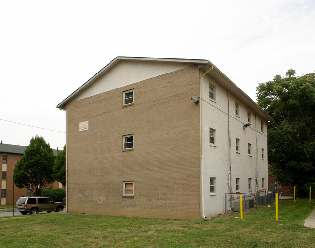
[[[126,90],[134,104],[123,107]],[[199,70],[188,67],[67,104],[68,211],[200,218]],[[79,123],[89,121],[89,130]],[[134,149],[122,151],[122,136]],[[123,198],[134,181],[134,198]]]

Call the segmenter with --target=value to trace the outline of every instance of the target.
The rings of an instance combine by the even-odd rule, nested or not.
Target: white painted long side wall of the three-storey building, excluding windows
[[[209,98],[209,83],[215,86],[215,101]],[[258,170],[259,190],[262,190],[262,178],[268,189],[267,177],[267,129],[260,131],[261,118],[231,93],[222,88],[208,76],[203,78],[203,192],[205,216],[225,211],[225,193],[229,193],[229,134],[231,137],[231,190],[236,193],[236,178],[240,178],[242,193],[256,192],[255,172]],[[239,104],[239,116],[235,114],[235,102]],[[247,112],[251,112],[251,127],[243,128],[247,123]],[[228,115],[229,112],[229,115]],[[228,118],[229,116],[229,118]],[[229,129],[228,129],[229,119]],[[256,125],[257,122],[257,125]],[[257,132],[256,132],[257,126]],[[209,128],[216,130],[216,144],[210,145]],[[256,149],[257,136],[257,149]],[[236,152],[236,138],[240,140],[239,152]],[[252,144],[252,153],[248,154],[248,143]],[[261,159],[261,148],[265,151],[265,160]],[[216,178],[216,193],[210,194],[210,177]],[[248,178],[252,178],[252,191],[248,189]]]

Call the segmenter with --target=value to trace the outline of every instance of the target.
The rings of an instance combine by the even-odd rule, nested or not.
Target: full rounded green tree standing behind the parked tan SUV
[[[55,155],[49,143],[43,137],[33,137],[14,168],[16,186],[31,189],[33,195],[41,195],[54,182],[51,176],[54,161]]]

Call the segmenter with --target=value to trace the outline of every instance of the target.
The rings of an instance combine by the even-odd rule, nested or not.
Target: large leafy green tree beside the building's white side
[[[258,104],[275,120],[268,126],[268,162],[282,185],[306,194],[315,182],[315,73],[285,77],[257,87]]]

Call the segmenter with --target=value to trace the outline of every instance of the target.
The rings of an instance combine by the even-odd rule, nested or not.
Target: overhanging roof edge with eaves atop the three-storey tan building
[[[212,66],[214,70],[211,70],[208,75],[212,77],[215,81],[220,83],[224,88],[236,96],[241,102],[248,105],[253,111],[259,114],[260,117],[266,121],[274,121],[266,111],[264,111],[256,102],[254,102],[248,95],[245,94],[240,88],[236,86],[224,73],[222,73],[215,65],[213,65],[209,60],[204,59],[183,59],[183,58],[150,58],[150,57],[123,57],[118,56],[110,61],[104,68],[102,68],[98,73],[86,81],[81,87],[74,91],[70,96],[60,102],[56,107],[59,109],[65,109],[65,105],[74,99],[78,94],[80,94],[85,88],[89,87],[97,80],[100,76],[110,71],[114,66],[116,66],[120,61],[136,61],[136,62],[166,62],[166,63],[186,63],[186,64],[198,64],[199,68],[206,72]]]

